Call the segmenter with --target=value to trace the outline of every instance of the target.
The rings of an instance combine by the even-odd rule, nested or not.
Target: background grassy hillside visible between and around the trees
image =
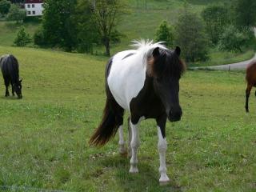
[[[178,15],[182,11],[183,2],[179,0],[147,0],[147,10],[144,8],[144,1],[129,0],[130,14],[126,14],[118,26],[118,29],[125,35],[120,44],[111,46],[111,53],[115,54],[120,50],[127,50],[134,39],[154,39],[154,33],[162,20],[167,20],[171,25],[177,22]],[[210,3],[222,3],[220,0],[189,0],[190,10],[200,13]],[[26,23],[26,30],[33,35],[38,28],[36,23]],[[0,46],[11,46],[17,34],[18,26],[14,23],[0,22]],[[103,54],[103,47],[97,48],[98,54]],[[240,62],[252,58],[254,52],[247,50],[242,54],[220,52],[210,50],[210,61],[194,63],[193,66],[211,66],[226,63]]]

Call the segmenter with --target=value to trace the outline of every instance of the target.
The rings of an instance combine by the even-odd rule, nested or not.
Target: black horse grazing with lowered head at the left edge
[[[6,97],[10,96],[8,86],[11,84],[13,96],[16,93],[18,98],[22,98],[22,80],[19,80],[17,58],[11,54],[2,56],[0,68],[6,85]]]

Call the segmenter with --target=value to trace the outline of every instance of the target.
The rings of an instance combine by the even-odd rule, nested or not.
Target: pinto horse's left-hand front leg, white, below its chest
[[[137,158],[137,150],[140,145],[139,137],[138,137],[138,125],[140,121],[135,121],[133,123],[132,119],[130,120],[130,130],[131,130],[131,158],[130,158],[130,173],[138,173],[138,158]]]

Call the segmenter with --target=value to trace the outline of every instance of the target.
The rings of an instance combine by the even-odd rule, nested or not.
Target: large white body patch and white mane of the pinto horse
[[[126,50],[115,54],[107,78],[110,92],[119,106],[130,111],[130,101],[142,90],[146,79],[147,59],[156,47],[166,49],[159,42],[135,42],[138,50]],[[128,54],[130,57],[126,57]],[[123,59],[125,58],[125,59]]]

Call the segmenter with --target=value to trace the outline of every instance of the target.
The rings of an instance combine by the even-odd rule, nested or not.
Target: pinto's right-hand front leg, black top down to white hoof
[[[164,185],[167,182],[170,182],[170,178],[168,178],[166,174],[166,150],[167,150],[167,143],[166,143],[166,115],[162,115],[161,118],[157,119],[158,123],[158,152],[160,158],[160,185]]]

